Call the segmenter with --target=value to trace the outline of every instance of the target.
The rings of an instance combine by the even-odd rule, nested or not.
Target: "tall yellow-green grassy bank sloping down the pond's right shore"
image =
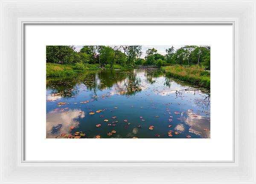
[[[194,83],[210,89],[210,72],[200,68],[185,68],[183,66],[163,66],[162,70],[170,77]]]

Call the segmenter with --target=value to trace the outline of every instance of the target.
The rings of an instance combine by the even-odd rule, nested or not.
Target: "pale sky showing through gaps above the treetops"
[[[83,46],[75,46],[76,47],[76,52],[79,52],[81,48],[83,48]],[[171,48],[172,46],[156,46],[156,45],[151,45],[151,46],[142,46],[141,48],[141,52],[142,55],[140,56],[140,58],[145,58],[146,55],[146,50],[148,49],[152,49],[155,48],[157,49],[157,53],[161,54],[161,55],[166,55],[166,49]],[[175,50],[180,49],[180,47],[182,46],[173,46]]]

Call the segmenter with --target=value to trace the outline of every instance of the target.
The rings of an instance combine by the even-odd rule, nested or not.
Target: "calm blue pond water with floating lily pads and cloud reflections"
[[[157,69],[47,78],[46,89],[47,138],[210,138],[209,91]]]

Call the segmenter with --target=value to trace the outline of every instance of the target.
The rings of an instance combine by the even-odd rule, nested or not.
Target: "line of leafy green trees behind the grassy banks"
[[[172,46],[166,49],[166,54],[157,53],[155,48],[142,55],[142,46],[83,46],[76,52],[74,46],[46,46],[46,61],[61,64],[114,64],[122,66],[170,64],[210,66],[209,46],[183,46],[176,49]]]

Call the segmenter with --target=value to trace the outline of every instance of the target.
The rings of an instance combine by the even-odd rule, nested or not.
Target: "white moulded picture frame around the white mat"
[[[2,0],[0,183],[256,184],[255,10],[255,0]],[[31,23],[232,23],[234,160],[24,161],[23,28]]]

